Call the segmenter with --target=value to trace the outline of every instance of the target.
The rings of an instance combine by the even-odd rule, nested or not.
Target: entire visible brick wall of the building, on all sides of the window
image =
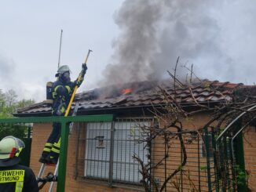
[[[209,115],[207,114],[200,114],[200,115],[195,115],[193,118],[189,120],[184,120],[183,125],[185,128],[190,128],[193,130],[202,128],[204,123],[209,120]],[[82,125],[84,126],[84,125]],[[33,128],[33,139],[32,139],[32,145],[31,145],[31,168],[34,170],[35,175],[38,174],[39,168],[40,168],[40,163],[38,162],[38,159],[42,153],[42,149],[44,147],[44,144],[46,143],[46,139],[49,136],[49,133],[52,130],[52,125],[51,124],[35,124]],[[124,191],[124,192],[132,192],[132,191],[141,191],[141,189],[138,190],[131,190],[127,189],[126,187],[134,187],[136,186],[124,186],[124,187],[108,187],[108,183],[106,182],[101,182],[97,180],[91,180],[90,182],[85,179],[82,179],[81,177],[77,177],[75,179],[76,174],[82,175],[83,173],[83,161],[82,158],[84,158],[84,147],[85,147],[85,129],[80,129],[82,132],[80,132],[80,145],[79,145],[79,157],[76,162],[76,155],[77,155],[77,142],[78,142],[78,129],[76,127],[73,130],[73,133],[69,139],[69,145],[68,145],[68,162],[67,162],[67,179],[66,179],[66,191],[92,191],[92,192],[103,192],[103,191],[111,191],[111,192],[118,192],[118,191]],[[205,170],[200,170],[198,167],[198,164],[195,162],[192,162],[192,158],[195,158],[195,156],[191,156],[192,154],[195,154],[198,156],[199,154],[199,149],[196,147],[198,140],[195,139],[192,141],[192,143],[188,146],[191,149],[188,150],[190,152],[188,156],[188,164],[185,167],[186,172],[188,174],[188,171],[190,173],[194,172],[195,176],[198,176],[200,174],[201,176],[201,182],[203,185],[207,185],[206,183],[206,171]],[[155,154],[163,154],[163,143],[161,142],[161,139],[157,142],[158,144],[155,145]],[[245,163],[246,163],[246,169],[247,171],[250,172],[250,178],[249,178],[249,183],[251,189],[256,190],[256,132],[255,129],[247,129],[246,132],[244,132],[244,153],[245,153]],[[174,141],[173,147],[177,145],[177,149],[175,152],[170,153],[170,157],[176,155],[178,159],[181,157],[177,154],[179,153],[179,143],[178,140]],[[174,158],[174,157],[173,157]],[[169,169],[174,170],[174,168],[177,168],[177,166],[174,166],[175,164],[172,164],[174,159],[170,159],[167,161],[166,166]],[[157,161],[157,159],[155,159]],[[200,166],[204,166],[206,159],[201,157],[200,158]],[[78,164],[77,164],[78,163]],[[76,166],[78,165],[78,166]],[[178,165],[178,164],[177,164]],[[76,171],[75,169],[78,168]],[[47,172],[54,172],[54,168],[46,168],[46,173]],[[189,174],[190,174],[189,173]],[[161,175],[162,174],[162,175]],[[159,175],[159,178],[163,177],[163,170],[155,170],[155,176]],[[160,176],[161,175],[161,176]],[[194,174],[193,174],[194,175]],[[198,180],[196,180],[196,185],[198,184]],[[202,184],[201,183],[201,184]],[[188,183],[188,186],[191,185],[191,183]],[[46,184],[43,190],[41,191],[48,191],[49,184]],[[207,187],[207,186],[205,186]],[[143,190],[142,190],[143,191]]]

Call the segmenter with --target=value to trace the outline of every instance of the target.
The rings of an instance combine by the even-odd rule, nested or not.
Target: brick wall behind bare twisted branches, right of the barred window
[[[182,125],[189,131],[194,131],[203,128],[203,125],[209,121],[209,115],[194,115],[190,119],[184,119]],[[164,126],[164,124],[160,125]],[[177,132],[177,129],[170,129],[173,132]],[[182,136],[185,143],[186,150],[186,163],[181,170],[169,180],[167,183],[166,191],[208,191],[207,187],[207,158],[202,155],[203,141],[201,136],[192,135],[190,133]],[[181,168],[181,161],[183,161],[184,154],[181,153],[181,143],[177,137],[170,139],[170,148],[168,158],[162,161],[162,164],[155,168],[153,174],[158,180],[160,186],[163,185],[165,177],[167,178],[176,169]],[[157,164],[163,159],[164,154],[168,150],[168,147],[164,144],[164,138],[158,137],[153,144],[153,158],[152,163]],[[211,159],[213,161],[213,159]],[[213,166],[213,165],[211,165]],[[182,180],[182,182],[181,182]],[[212,179],[212,181],[214,178]],[[182,183],[182,184],[181,184]]]

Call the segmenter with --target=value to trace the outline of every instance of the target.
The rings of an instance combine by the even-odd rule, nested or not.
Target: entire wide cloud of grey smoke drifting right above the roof
[[[120,34],[103,85],[163,78],[174,69],[178,56],[180,65],[203,63],[197,67],[199,76],[205,67],[218,69],[218,74],[219,67],[222,73],[230,71],[232,60],[221,50],[221,29],[212,11],[218,6],[221,2],[204,0],[123,2],[115,15]],[[185,76],[188,71],[183,67],[178,72]]]

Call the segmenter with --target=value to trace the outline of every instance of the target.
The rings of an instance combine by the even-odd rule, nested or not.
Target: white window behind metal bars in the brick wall
[[[139,183],[142,179],[140,165],[132,156],[137,154],[146,163],[148,150],[144,149],[145,143],[137,143],[135,139],[143,136],[141,125],[147,126],[150,122],[150,119],[118,119],[113,124],[88,123],[84,175],[113,182]]]

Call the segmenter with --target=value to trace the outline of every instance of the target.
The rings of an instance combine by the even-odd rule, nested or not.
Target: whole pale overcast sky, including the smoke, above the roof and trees
[[[46,100],[60,65],[75,79],[92,49],[79,92],[166,78],[180,56],[199,78],[255,81],[254,0],[45,0],[0,6],[0,89]]]

